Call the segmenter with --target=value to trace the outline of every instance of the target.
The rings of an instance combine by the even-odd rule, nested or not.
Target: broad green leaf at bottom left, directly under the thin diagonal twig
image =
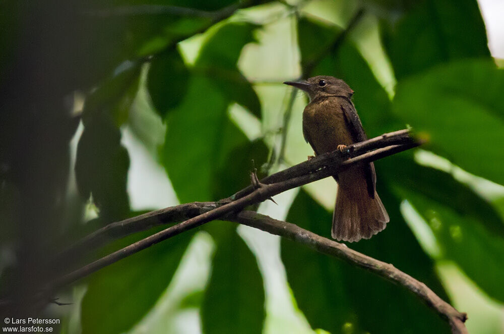
[[[127,237],[115,242],[113,248],[127,246],[152,233]],[[82,302],[83,334],[121,333],[140,321],[168,287],[193,235],[183,233],[93,274]]]

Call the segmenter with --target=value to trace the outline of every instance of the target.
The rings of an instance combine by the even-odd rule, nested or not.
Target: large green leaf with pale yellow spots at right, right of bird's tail
[[[504,224],[488,203],[444,172],[407,160],[384,173],[430,225],[443,258],[453,260],[488,295],[504,301]],[[481,259],[485,259],[482,261]]]

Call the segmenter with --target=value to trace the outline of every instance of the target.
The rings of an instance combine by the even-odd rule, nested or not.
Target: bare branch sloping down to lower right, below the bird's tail
[[[321,253],[337,257],[352,265],[366,269],[383,277],[387,281],[403,286],[418,296],[428,307],[434,309],[440,317],[447,320],[454,334],[467,334],[467,328],[464,324],[467,320],[466,313],[457,311],[452,305],[439,298],[424,283],[415,280],[390,263],[376,260],[348,248],[345,244],[321,237],[297,225],[276,220],[254,211],[241,211],[235,215],[229,215],[226,217],[226,220],[260,229],[303,244]]]

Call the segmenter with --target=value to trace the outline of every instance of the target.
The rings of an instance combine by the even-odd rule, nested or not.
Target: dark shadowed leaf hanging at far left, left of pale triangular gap
[[[93,195],[105,221],[130,212],[126,191],[130,158],[120,144],[121,134],[108,118],[94,117],[84,128],[77,146],[77,185],[86,200]]]

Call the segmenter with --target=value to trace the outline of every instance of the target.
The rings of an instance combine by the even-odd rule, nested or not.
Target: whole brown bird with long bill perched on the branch
[[[364,141],[353,90],[341,79],[317,76],[308,80],[284,82],[305,91],[310,102],[303,112],[303,135],[316,155],[343,150]],[[376,193],[374,164],[357,164],[333,176],[338,193],[331,235],[334,239],[359,241],[385,229],[390,218]]]

